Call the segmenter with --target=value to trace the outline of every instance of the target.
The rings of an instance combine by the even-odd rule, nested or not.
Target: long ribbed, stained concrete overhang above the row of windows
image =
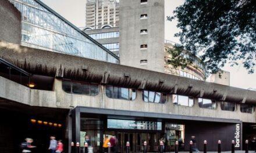
[[[0,42],[0,57],[31,74],[176,93],[233,103],[256,104],[256,92],[251,90],[27,48],[13,43]]]

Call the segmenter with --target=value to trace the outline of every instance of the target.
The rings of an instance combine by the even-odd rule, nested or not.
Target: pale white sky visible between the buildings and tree
[[[41,1],[77,27],[85,27],[86,0]],[[165,0],[165,16],[172,16],[173,10],[183,3],[184,0]],[[174,34],[179,32],[179,28],[177,28],[176,25],[177,21],[165,21],[165,39],[179,43],[179,38],[174,37]],[[226,64],[222,70],[230,72],[230,86],[243,89],[256,89],[256,70],[254,74],[248,74],[242,64],[234,67],[230,67],[229,64]]]

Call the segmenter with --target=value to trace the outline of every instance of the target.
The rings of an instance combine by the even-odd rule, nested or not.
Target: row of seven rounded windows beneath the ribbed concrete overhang
[[[94,83],[84,83],[84,82],[74,82],[63,80],[62,89],[66,93],[73,94],[84,94],[88,96],[97,96],[99,93],[99,85]],[[122,88],[117,86],[106,86],[106,96],[111,99],[122,99],[122,100],[135,100],[137,97],[136,89]],[[143,90],[143,101],[147,103],[158,103],[164,104],[168,100],[167,93],[152,92],[148,90]],[[193,107],[194,97],[182,96],[178,94],[172,94],[173,104],[183,105],[187,107]],[[217,108],[217,103],[215,100],[198,98],[198,105],[201,108],[208,108],[215,110]],[[236,103],[229,103],[226,101],[221,102],[221,109],[225,111],[235,111]],[[240,104],[240,111],[253,113],[253,105]]]

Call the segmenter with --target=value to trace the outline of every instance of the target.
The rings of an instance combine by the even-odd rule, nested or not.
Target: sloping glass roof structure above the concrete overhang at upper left
[[[9,0],[22,13],[21,45],[119,64],[119,57],[39,0]]]

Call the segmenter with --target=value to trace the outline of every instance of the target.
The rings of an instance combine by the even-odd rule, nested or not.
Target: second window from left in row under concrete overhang
[[[136,90],[116,86],[106,86],[106,96],[111,99],[134,100],[136,99]]]

